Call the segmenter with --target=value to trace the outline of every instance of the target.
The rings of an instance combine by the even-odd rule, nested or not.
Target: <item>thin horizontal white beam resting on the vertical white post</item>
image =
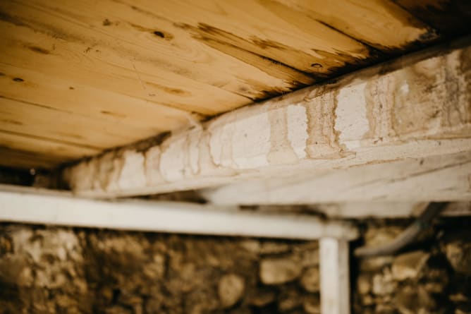
[[[357,229],[351,224],[323,222],[307,215],[261,214],[192,203],[108,202],[74,198],[67,193],[3,190],[7,191],[0,191],[0,221],[6,222],[221,236],[357,237]]]

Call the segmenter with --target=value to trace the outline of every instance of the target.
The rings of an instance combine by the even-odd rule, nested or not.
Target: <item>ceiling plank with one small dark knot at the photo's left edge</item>
[[[30,58],[38,60],[35,56]],[[84,80],[76,80],[78,76],[69,80],[74,75],[72,71],[67,73],[67,78],[57,78],[50,69],[41,71],[41,68],[39,66],[32,71],[23,66],[0,63],[0,72],[3,73],[0,76],[1,96],[103,121],[106,128],[114,126],[121,131],[127,128],[128,133],[136,133],[137,136],[179,128],[188,123],[188,119],[197,118],[181,109],[92,86],[93,73],[89,73],[88,82],[85,82],[85,73],[82,74]]]

